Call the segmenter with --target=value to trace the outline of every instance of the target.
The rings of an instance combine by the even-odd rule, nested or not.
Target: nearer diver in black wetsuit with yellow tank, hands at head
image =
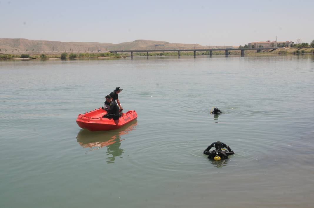
[[[209,151],[212,147],[215,147],[215,150]],[[227,148],[227,150],[221,148]],[[209,159],[214,160],[224,160],[228,158],[228,155],[234,154],[234,152],[229,146],[220,141],[214,142],[211,145],[209,145],[208,148],[206,148],[203,153],[208,155]]]

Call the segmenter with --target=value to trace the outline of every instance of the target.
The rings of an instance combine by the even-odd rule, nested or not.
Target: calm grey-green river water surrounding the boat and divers
[[[0,207],[313,207],[314,55],[3,60],[0,86]],[[137,121],[80,129],[117,86]]]

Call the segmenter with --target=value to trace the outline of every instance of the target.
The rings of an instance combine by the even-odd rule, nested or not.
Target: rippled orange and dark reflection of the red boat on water
[[[112,131],[99,131],[90,132],[86,129],[81,129],[77,135],[77,141],[79,145],[84,148],[90,148],[91,150],[107,147],[107,155],[112,157],[106,158],[107,163],[114,163],[115,157],[121,156],[124,152],[121,146],[121,135],[128,134],[135,130],[137,126],[137,120],[128,123],[122,128]]]

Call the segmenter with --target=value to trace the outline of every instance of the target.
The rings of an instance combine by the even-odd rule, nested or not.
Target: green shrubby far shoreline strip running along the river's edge
[[[314,54],[314,48],[278,48],[273,51],[263,50],[257,53],[255,50],[246,50],[246,55],[257,55],[257,54]],[[149,52],[149,56],[177,56],[178,52]],[[181,56],[185,55],[194,55],[193,51],[191,52],[180,52]],[[209,51],[197,51],[196,55],[209,55]],[[213,51],[212,55],[225,55],[225,51]],[[241,55],[240,50],[230,50],[229,55]],[[121,58],[131,56],[131,53],[62,53],[62,54],[1,54],[0,59],[49,59],[49,58],[59,58],[59,59],[78,59],[78,58]],[[133,53],[133,56],[147,56],[146,52],[137,52]]]

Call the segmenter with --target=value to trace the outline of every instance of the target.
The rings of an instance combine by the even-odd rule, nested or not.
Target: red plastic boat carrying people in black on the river
[[[123,113],[117,120],[113,120],[112,118],[103,118],[103,115],[106,113],[106,110],[98,108],[94,111],[79,114],[76,122],[79,127],[95,132],[114,130],[137,118],[136,111]]]

